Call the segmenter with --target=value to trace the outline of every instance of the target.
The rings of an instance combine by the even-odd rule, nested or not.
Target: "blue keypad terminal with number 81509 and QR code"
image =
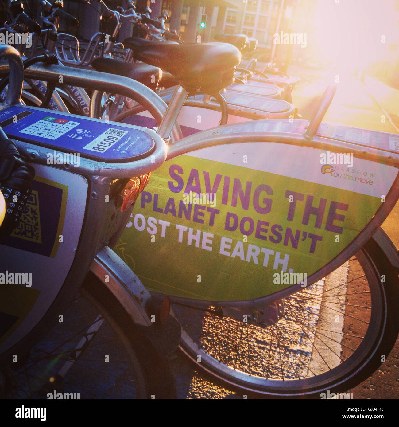
[[[138,160],[155,146],[148,134],[129,125],[20,105],[0,111],[0,126],[10,138],[96,161]]]

